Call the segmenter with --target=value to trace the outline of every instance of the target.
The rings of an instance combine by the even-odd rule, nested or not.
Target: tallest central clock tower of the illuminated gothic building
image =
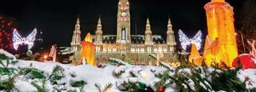
[[[117,16],[117,43],[130,43],[130,5],[128,0],[119,0]]]

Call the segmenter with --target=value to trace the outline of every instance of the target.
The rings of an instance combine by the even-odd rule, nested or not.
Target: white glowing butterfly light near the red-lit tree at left
[[[26,38],[22,38],[22,36],[18,34],[17,30],[14,29],[14,33],[13,33],[14,49],[18,50],[19,45],[26,44],[28,45],[28,50],[30,50],[32,46],[34,46],[34,40],[35,40],[36,34],[37,34],[37,29],[34,29]]]

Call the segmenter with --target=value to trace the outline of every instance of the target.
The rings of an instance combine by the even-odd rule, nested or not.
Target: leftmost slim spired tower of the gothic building
[[[71,45],[71,52],[74,52],[74,62],[78,62],[81,53],[81,30],[80,30],[80,22],[79,18],[77,20],[77,24],[74,27],[72,42]]]

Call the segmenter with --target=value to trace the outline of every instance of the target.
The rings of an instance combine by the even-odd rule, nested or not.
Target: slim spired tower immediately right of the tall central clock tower
[[[153,45],[152,31],[150,28],[150,20],[146,19],[146,30],[145,30],[145,45]]]

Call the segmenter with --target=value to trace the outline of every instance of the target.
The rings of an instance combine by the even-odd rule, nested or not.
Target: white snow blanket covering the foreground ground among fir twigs
[[[6,54],[8,57],[13,58],[16,61],[16,58],[4,50],[0,50],[0,54]],[[114,59],[114,58],[111,58]],[[88,92],[96,92],[98,91],[95,84],[99,84],[102,86],[102,89],[106,84],[112,83],[112,87],[110,91],[119,92],[122,89],[122,82],[142,82],[146,84],[146,86],[150,86],[153,90],[155,82],[160,81],[159,78],[156,77],[156,74],[162,74],[165,70],[174,69],[175,67],[162,67],[162,66],[132,66],[125,62],[122,62],[118,59],[114,59],[120,63],[124,63],[124,66],[111,66],[106,65],[105,68],[98,68],[90,65],[81,65],[81,66],[73,66],[71,64],[61,64],[58,62],[37,62],[37,61],[24,61],[17,60],[18,62],[15,64],[9,65],[9,67],[13,68],[24,68],[24,67],[34,67],[38,70],[43,70],[46,77],[49,77],[53,72],[54,66],[62,66],[64,69],[65,77],[59,80],[58,82],[65,83],[62,86],[54,86],[50,83],[50,81],[46,81],[46,89],[48,91],[53,91],[54,87],[63,88],[66,90],[77,90],[80,91],[79,88],[75,88],[70,86],[71,81],[79,81],[83,80],[87,84],[83,87],[82,91]],[[6,62],[6,61],[3,61]],[[163,63],[166,64],[166,63]],[[167,65],[166,65],[167,66]],[[183,69],[183,71],[190,72],[189,70]],[[178,71],[181,72],[181,71]],[[136,77],[132,77],[130,74],[134,74]],[[71,77],[70,74],[75,74],[76,77]],[[117,75],[118,74],[118,75]],[[171,75],[171,74],[170,74]],[[237,74],[238,78],[243,82],[247,78],[249,81],[246,81],[246,88],[252,89],[256,88],[256,69],[249,70],[240,70]],[[0,75],[0,81],[6,80],[6,76]],[[38,85],[42,85],[40,79],[27,78],[25,75],[19,75],[14,79],[14,86],[16,89],[20,91],[37,91],[36,87],[31,85],[31,82],[38,82]],[[41,83],[41,84],[40,84]],[[193,86],[194,84],[190,84]],[[119,90],[118,90],[119,89]],[[174,88],[166,88],[166,91],[175,91]]]

